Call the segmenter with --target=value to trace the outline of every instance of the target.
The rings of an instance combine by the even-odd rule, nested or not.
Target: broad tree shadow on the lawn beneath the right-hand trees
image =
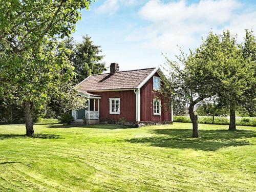
[[[256,132],[239,130],[200,130],[200,138],[191,138],[191,129],[159,129],[152,130],[153,137],[132,138],[126,141],[143,143],[164,148],[192,148],[202,151],[216,151],[223,147],[250,145],[249,141],[241,140],[256,137]],[[237,140],[240,139],[240,140]]]

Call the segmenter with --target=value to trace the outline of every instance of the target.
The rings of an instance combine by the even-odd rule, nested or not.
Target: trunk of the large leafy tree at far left
[[[26,123],[26,135],[32,137],[34,135],[33,128],[33,103],[30,101],[25,102],[25,123]]]

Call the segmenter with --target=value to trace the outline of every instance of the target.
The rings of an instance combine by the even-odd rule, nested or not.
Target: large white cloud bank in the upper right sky
[[[244,29],[256,24],[256,11],[246,10],[236,0],[201,0],[190,5],[183,0],[169,3],[151,0],[140,9],[139,15],[151,24],[133,31],[125,40],[140,39],[143,48],[170,54],[177,53],[177,45],[183,50],[195,48],[201,36],[209,31],[221,33],[229,29],[242,39]]]

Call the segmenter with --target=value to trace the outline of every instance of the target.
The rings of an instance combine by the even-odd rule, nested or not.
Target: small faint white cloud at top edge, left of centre
[[[132,6],[136,3],[136,0],[105,0],[102,5],[96,9],[97,13],[101,14],[114,14],[120,6]]]

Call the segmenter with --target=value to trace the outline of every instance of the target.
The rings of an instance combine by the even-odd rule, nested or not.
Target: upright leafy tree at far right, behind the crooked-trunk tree
[[[244,57],[242,46],[238,45],[236,37],[231,36],[229,31],[220,36],[220,46],[222,55],[219,56],[219,73],[216,78],[218,98],[230,110],[229,130],[234,131],[236,110],[253,90],[251,87],[255,82],[255,67],[250,57]],[[251,94],[255,97],[255,92]]]

